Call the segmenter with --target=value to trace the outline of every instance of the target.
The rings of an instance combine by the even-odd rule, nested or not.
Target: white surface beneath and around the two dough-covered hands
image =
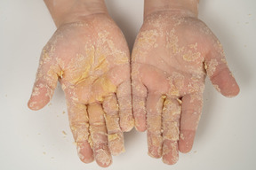
[[[143,1],[108,0],[108,10],[132,47],[142,23]],[[166,166],[147,155],[145,133],[125,135],[126,152],[111,170],[252,170],[256,167],[256,1],[202,0],[200,19],[220,38],[241,93],[220,96],[209,81],[193,150]],[[51,104],[29,111],[39,55],[55,27],[43,1],[0,1],[0,169],[99,170],[76,157],[60,86]],[[66,112],[66,113],[63,113]],[[67,135],[63,135],[65,131]]]

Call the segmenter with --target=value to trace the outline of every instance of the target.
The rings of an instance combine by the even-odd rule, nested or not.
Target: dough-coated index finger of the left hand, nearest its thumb
[[[77,104],[70,99],[67,101],[69,124],[76,142],[78,156],[84,163],[90,163],[94,158],[90,145],[92,139],[89,137],[89,120],[86,106]]]

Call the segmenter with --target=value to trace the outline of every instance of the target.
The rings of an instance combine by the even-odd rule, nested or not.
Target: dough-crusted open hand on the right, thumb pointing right
[[[203,107],[205,73],[226,97],[239,88],[220,42],[186,12],[152,12],[132,51],[135,127],[147,129],[148,154],[174,164],[192,148]]]

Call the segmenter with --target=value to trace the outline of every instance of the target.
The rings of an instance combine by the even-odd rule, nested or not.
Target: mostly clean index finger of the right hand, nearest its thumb
[[[202,108],[202,93],[194,93],[182,97],[179,150],[183,153],[187,153],[192,149]]]

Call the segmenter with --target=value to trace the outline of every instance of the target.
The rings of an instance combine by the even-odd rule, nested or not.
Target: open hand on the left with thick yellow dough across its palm
[[[58,80],[79,157],[109,166],[111,154],[124,151],[133,119],[129,50],[107,14],[60,25],[42,51],[29,108],[44,107]]]

